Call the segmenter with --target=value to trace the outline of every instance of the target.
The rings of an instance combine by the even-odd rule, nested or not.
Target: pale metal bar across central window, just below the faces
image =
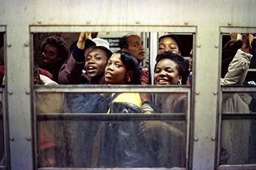
[[[171,93],[190,92],[190,86],[131,86],[131,85],[35,85],[36,92],[62,92],[62,93]]]

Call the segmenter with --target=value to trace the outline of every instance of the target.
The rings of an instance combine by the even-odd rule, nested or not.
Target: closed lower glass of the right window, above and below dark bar
[[[256,162],[255,94],[223,93],[220,164]],[[244,119],[246,116],[249,118]]]

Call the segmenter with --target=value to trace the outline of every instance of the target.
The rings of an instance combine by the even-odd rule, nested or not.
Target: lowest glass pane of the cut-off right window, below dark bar
[[[220,164],[255,164],[255,120],[222,121]]]

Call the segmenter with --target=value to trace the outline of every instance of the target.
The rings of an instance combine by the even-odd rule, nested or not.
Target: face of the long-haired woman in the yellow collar
[[[106,84],[127,84],[125,65],[121,61],[121,54],[113,54],[105,70]]]

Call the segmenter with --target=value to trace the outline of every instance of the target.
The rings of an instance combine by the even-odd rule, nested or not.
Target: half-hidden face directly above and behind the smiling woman
[[[178,49],[178,45],[173,38],[162,38],[162,40],[159,42],[158,53],[161,54],[168,51],[171,51],[175,54],[180,54],[180,49]]]

